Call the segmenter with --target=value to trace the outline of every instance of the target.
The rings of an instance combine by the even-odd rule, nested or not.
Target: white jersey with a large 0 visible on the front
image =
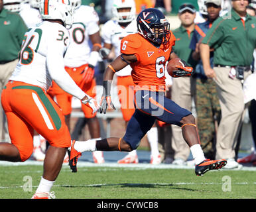
[[[75,10],[70,32],[70,46],[64,58],[65,66],[80,67],[88,64],[91,48],[89,36],[99,31],[99,17],[93,7],[81,5]]]

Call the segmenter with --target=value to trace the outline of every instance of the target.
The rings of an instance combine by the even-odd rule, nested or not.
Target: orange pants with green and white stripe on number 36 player
[[[7,116],[11,143],[27,160],[33,151],[34,130],[51,146],[67,148],[71,137],[60,107],[36,85],[9,81],[1,94],[1,103]]]

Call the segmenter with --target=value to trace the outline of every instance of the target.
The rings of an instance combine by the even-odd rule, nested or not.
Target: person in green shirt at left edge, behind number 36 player
[[[3,8],[0,0],[0,93],[10,78],[18,63],[18,54],[21,50],[23,36],[27,26],[18,13],[12,13]],[[0,105],[0,138],[2,140],[4,129],[3,108]],[[5,140],[9,138],[5,138]]]

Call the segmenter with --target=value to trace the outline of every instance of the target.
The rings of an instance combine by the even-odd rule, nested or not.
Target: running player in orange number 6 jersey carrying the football
[[[139,13],[137,17],[138,33],[129,34],[121,40],[121,55],[119,55],[105,70],[103,77],[103,95],[100,112],[106,113],[107,107],[115,109],[111,101],[110,87],[115,72],[128,64],[133,69],[131,76],[135,83],[135,113],[127,125],[123,138],[105,138],[102,140],[87,140],[72,142],[70,160],[76,164],[78,157],[84,151],[131,151],[139,146],[143,136],[151,129],[156,119],[182,128],[184,140],[190,146],[196,162],[196,175],[201,176],[208,170],[220,169],[226,160],[206,160],[195,119],[192,113],[171,99],[164,97],[166,62],[178,58],[172,52],[175,37],[169,30],[169,23],[158,9],[149,8]],[[192,68],[176,66],[177,76],[192,74]]]

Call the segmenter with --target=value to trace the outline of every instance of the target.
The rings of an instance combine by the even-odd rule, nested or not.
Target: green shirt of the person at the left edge
[[[18,58],[27,26],[18,13],[0,12],[0,62]]]

